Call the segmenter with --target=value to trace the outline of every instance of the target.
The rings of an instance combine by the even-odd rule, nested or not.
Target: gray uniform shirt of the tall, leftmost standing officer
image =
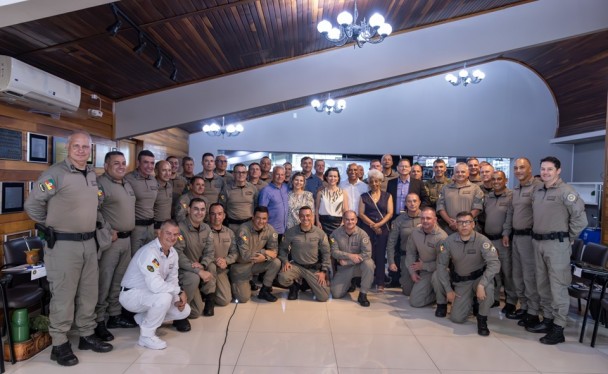
[[[87,165],[85,177],[69,159],[52,165],[34,183],[25,202],[30,218],[57,232],[95,231],[99,204],[97,176]]]

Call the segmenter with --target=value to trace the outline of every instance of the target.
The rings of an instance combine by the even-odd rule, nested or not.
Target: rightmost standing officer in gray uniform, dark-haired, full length
[[[585,203],[576,190],[560,178],[561,162],[556,157],[540,160],[540,177],[544,186],[532,195],[534,232],[532,245],[536,254],[536,286],[543,308],[543,321],[530,332],[546,332],[543,344],[565,341],[564,327],[570,307],[568,286],[570,250],[574,239],[587,226]]]

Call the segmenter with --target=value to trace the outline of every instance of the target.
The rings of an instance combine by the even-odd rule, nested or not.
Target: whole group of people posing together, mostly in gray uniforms
[[[541,160],[540,180],[526,158],[514,164],[509,190],[502,171],[472,157],[454,165],[453,179],[437,159],[433,178],[408,159],[393,170],[391,155],[345,180],[323,160],[249,166],[205,153],[194,160],[156,161],[144,150],[136,169],[118,151],[106,154],[104,174],[86,161],[88,134],[70,136],[65,161],[43,172],[26,211],[53,233],[45,246],[51,285],[51,358],[78,363],[66,337],[72,323],[79,349],[108,352],[109,329],[140,328],[138,343],[163,349],[165,321],[181,332],[189,319],[213,316],[215,306],[244,303],[252,292],[275,302],[311,290],[317,301],[400,287],[412,307],[437,304],[435,315],[462,323],[487,316],[504,288],[507,318],[540,341],[564,341],[569,300],[570,242],[587,225],[584,204],[564,183],[560,161]],[[388,276],[386,268],[388,265]],[[261,286],[260,286],[261,283]],[[518,307],[519,305],[519,307]],[[540,318],[542,316],[542,320]]]

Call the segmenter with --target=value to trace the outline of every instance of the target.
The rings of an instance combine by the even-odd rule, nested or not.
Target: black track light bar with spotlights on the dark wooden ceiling
[[[146,47],[150,44],[152,48],[156,49],[156,60],[152,66],[156,69],[161,70],[163,63],[168,61],[169,64],[173,66],[173,70],[171,71],[171,75],[169,75],[169,79],[174,82],[177,82],[177,67],[175,65],[175,61],[173,56],[169,54],[165,49],[163,49],[159,43],[157,43],[148,33],[143,31],[139,25],[137,25],[133,20],[125,14],[116,3],[111,3],[110,7],[112,8],[112,13],[114,14],[114,18],[116,22],[110,25],[107,30],[112,36],[116,36],[122,27],[122,21],[124,20],[129,26],[131,26],[135,32],[137,32],[137,40],[138,44],[133,47],[133,52],[140,56],[144,55],[144,51]]]

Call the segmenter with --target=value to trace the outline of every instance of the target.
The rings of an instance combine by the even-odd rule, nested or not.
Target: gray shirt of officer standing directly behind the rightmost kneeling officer
[[[460,212],[470,212],[473,209],[483,210],[483,192],[478,185],[467,181],[462,187],[450,183],[441,189],[437,199],[437,212],[445,210],[448,216],[454,218]]]

